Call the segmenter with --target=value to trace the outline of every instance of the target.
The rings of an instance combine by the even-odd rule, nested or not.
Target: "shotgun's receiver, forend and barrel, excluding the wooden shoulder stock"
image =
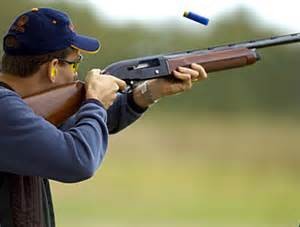
[[[256,49],[296,42],[300,42],[300,33],[129,59],[107,66],[105,72],[129,82],[168,76],[178,66],[192,63],[215,72],[255,63],[260,59]]]

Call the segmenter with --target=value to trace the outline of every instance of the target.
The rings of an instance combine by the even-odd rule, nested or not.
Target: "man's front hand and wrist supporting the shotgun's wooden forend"
[[[204,68],[199,64],[192,64],[191,68],[178,67],[178,70],[175,70],[172,75],[173,78],[153,79],[145,82],[147,84],[138,86],[133,93],[136,104],[146,108],[164,96],[190,90],[192,82],[207,78]]]

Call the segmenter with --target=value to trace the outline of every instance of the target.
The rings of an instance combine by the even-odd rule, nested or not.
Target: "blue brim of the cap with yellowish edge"
[[[76,35],[73,38],[71,47],[80,50],[81,52],[95,54],[100,50],[100,42],[92,37],[84,35]]]

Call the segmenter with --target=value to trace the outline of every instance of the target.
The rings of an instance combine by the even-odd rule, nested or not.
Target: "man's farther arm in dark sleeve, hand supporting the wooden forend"
[[[179,67],[173,79],[153,79],[136,87],[132,93],[119,94],[108,109],[107,125],[110,133],[117,133],[135,122],[156,100],[191,89],[192,82],[205,79],[205,70],[198,64]]]

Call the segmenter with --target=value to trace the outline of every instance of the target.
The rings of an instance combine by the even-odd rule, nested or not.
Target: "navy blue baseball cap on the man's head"
[[[8,55],[41,55],[67,47],[96,53],[100,42],[77,34],[69,16],[51,8],[33,8],[18,16],[3,38]]]

